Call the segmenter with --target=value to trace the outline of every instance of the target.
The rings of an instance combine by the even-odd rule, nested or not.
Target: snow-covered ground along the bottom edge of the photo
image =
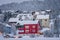
[[[38,36],[38,37],[29,37],[29,36],[23,36],[22,38],[4,38],[2,35],[0,35],[0,40],[60,40],[60,37],[59,38],[56,38],[56,37],[43,37],[43,35],[41,36]]]

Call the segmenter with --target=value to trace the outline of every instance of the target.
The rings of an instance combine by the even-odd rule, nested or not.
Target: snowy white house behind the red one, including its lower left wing
[[[17,17],[10,18],[9,23],[14,25],[18,21],[28,21],[28,20],[32,20],[32,19],[33,19],[33,17],[31,14],[18,14]]]

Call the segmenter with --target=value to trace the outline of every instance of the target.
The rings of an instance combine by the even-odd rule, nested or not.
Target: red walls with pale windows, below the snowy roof
[[[29,26],[29,28],[26,28]],[[35,34],[39,30],[38,24],[24,24],[24,28],[20,28],[19,30],[24,30],[24,32],[19,32],[19,34]]]

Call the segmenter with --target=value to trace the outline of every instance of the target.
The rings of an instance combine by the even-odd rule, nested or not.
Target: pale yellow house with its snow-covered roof
[[[49,27],[49,15],[37,15],[36,20],[39,20],[42,27]]]

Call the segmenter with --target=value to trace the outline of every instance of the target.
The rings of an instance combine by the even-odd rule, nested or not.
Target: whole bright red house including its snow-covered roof
[[[23,27],[18,28],[19,34],[35,34],[40,28],[38,21],[19,21],[18,23],[23,25]]]

